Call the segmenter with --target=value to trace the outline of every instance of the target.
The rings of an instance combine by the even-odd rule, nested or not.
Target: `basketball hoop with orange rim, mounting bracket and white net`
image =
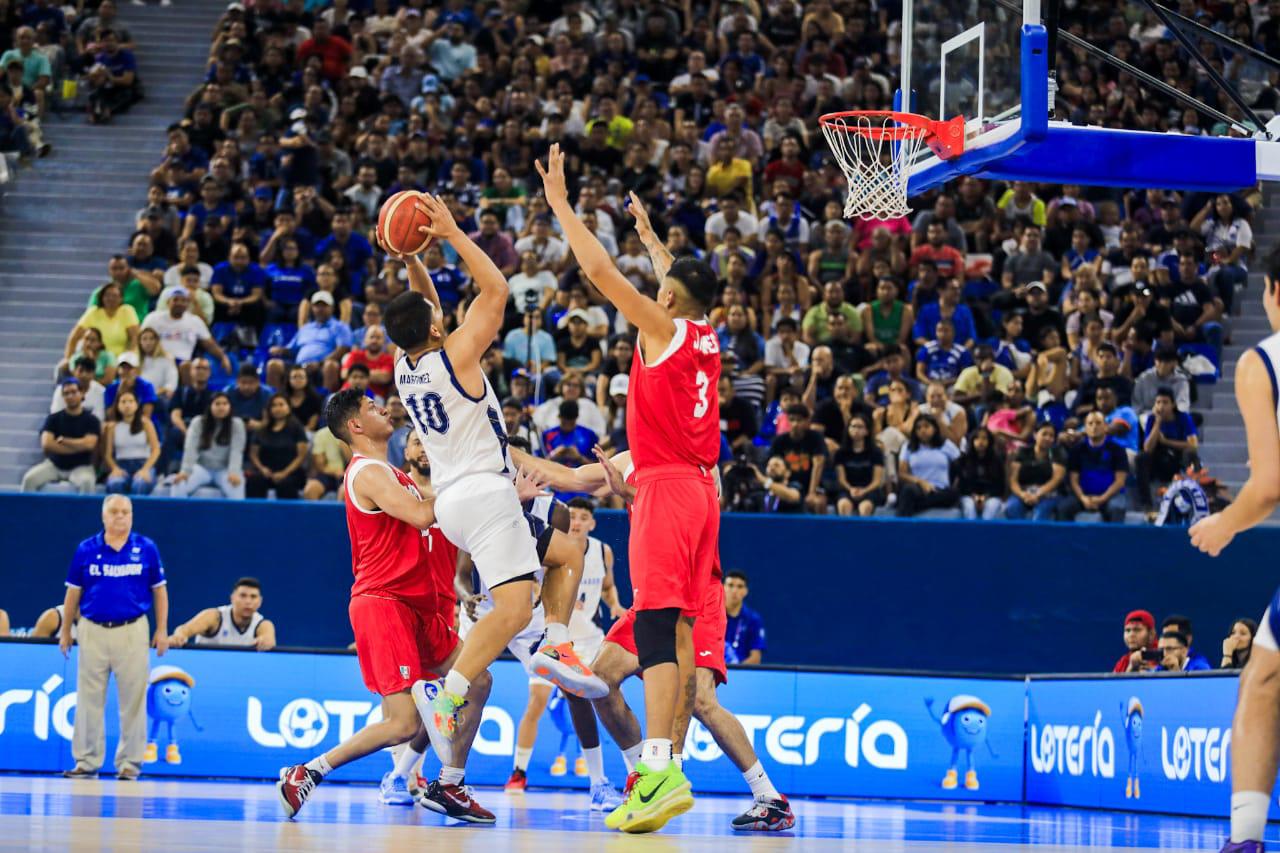
[[[908,178],[920,147],[940,159],[964,152],[964,117],[934,122],[914,113],[850,110],[818,119],[849,182],[845,218],[896,219],[911,213]]]

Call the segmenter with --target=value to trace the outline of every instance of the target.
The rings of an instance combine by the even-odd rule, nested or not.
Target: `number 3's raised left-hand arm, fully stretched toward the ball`
[[[635,284],[618,272],[600,241],[573,213],[573,205],[568,201],[568,187],[564,183],[564,154],[559,150],[559,145],[552,145],[545,169],[541,161],[535,160],[534,165],[538,168],[538,174],[543,175],[547,204],[564,229],[568,247],[573,250],[582,273],[599,288],[604,298],[622,311],[628,323],[640,329],[646,342],[645,350],[664,351],[676,337],[676,321],[666,309],[637,291]],[[662,275],[658,278],[662,280]]]

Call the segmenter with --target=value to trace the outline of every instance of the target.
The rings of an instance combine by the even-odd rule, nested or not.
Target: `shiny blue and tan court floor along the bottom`
[[[68,781],[0,776],[0,849],[404,850],[540,853],[646,850],[1217,850],[1226,824],[1033,806],[797,800],[796,830],[742,838],[744,798],[699,797],[655,835],[625,836],[585,811],[582,794],[481,790],[497,826],[445,826],[419,808],[381,806],[365,785],[323,785],[297,821],[269,784]],[[1268,841],[1280,841],[1276,827]]]

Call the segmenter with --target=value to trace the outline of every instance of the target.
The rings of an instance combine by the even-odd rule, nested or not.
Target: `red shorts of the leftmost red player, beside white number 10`
[[[356,634],[356,656],[365,686],[379,695],[410,689],[436,678],[458,646],[452,613],[415,607],[398,598],[353,596],[347,608]]]

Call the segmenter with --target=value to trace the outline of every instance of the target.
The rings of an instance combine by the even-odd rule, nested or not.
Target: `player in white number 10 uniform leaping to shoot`
[[[388,337],[402,351],[397,389],[431,460],[440,530],[471,555],[494,603],[470,631],[433,702],[431,724],[452,738],[471,681],[532,617],[539,562],[512,483],[516,469],[507,451],[502,405],[480,365],[502,328],[507,280],[443,201],[422,195],[417,206],[431,219],[424,233],[449,242],[477,291],[462,324],[445,338],[431,278],[421,260],[406,259],[411,289],[388,304],[384,320]],[[538,652],[536,667],[575,693],[605,694],[604,684],[573,654],[568,628],[558,628],[554,633],[548,628],[548,646]]]

